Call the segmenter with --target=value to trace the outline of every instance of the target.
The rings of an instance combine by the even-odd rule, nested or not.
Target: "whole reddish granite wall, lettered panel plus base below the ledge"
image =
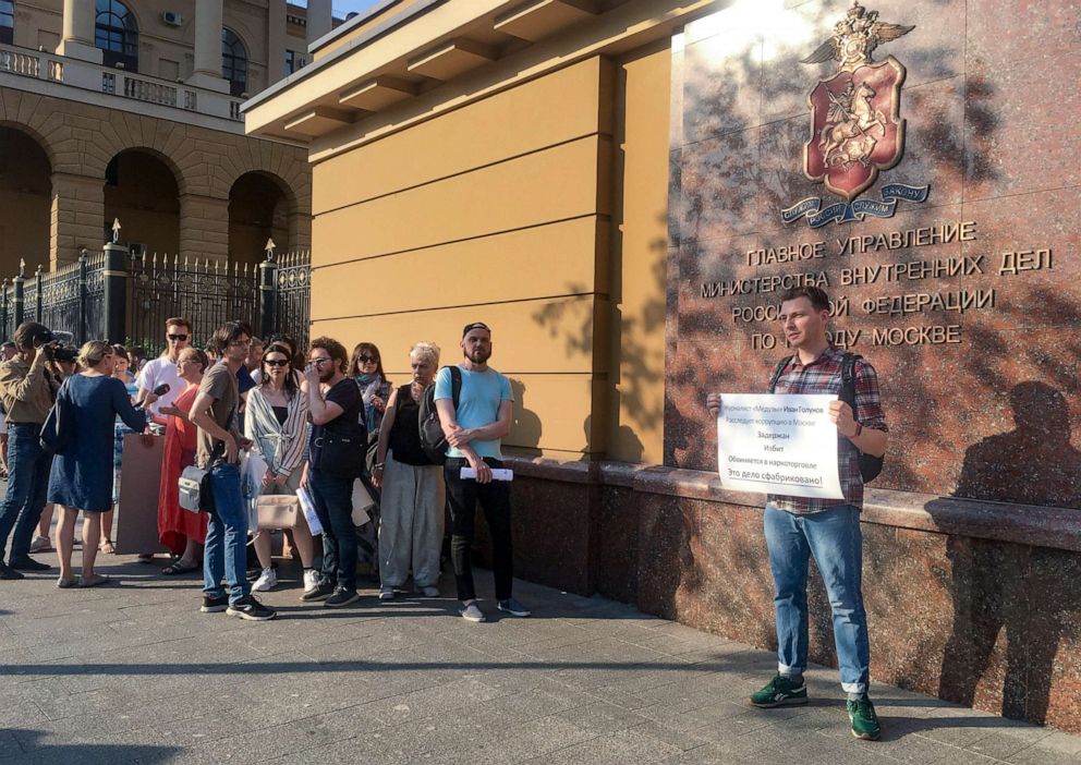
[[[806,280],[834,299],[838,344],[876,367],[890,425],[864,513],[873,676],[1079,730],[1078,8],[866,4],[915,27],[873,53],[907,68],[904,146],[858,198],[928,194],[886,218],[781,215],[842,201],[803,172],[809,94],[838,65],[800,60],[850,3],[730,2],[673,40],[667,467],[604,493],[600,592],[774,644],[762,498],[717,485],[704,399],[764,389],[788,353],[777,299]],[[636,566],[605,558],[608,539]],[[812,655],[833,664],[813,581]]]

